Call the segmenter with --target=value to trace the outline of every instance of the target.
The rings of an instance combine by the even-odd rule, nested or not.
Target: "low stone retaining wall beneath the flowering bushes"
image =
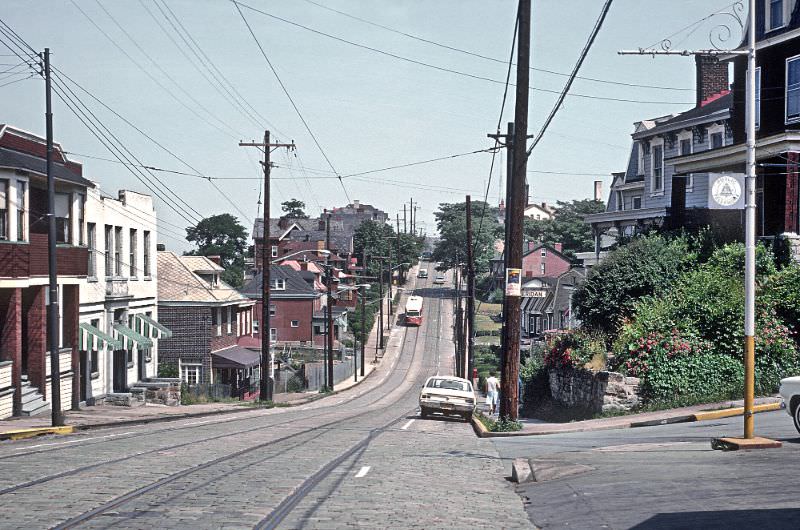
[[[550,396],[559,405],[589,414],[629,411],[639,404],[639,379],[617,372],[551,369]]]

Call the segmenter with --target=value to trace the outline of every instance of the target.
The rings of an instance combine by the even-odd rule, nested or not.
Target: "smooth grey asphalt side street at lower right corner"
[[[721,452],[742,419],[494,439],[506,462],[529,458],[574,475],[518,487],[540,528],[800,528],[800,436],[784,411],[756,434],[783,448]],[[584,467],[585,466],[585,467]]]

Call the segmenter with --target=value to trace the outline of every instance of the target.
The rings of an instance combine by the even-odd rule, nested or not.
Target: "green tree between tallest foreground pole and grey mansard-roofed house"
[[[553,219],[525,219],[525,235],[550,245],[562,243],[562,252],[574,258],[576,252],[586,252],[594,248],[592,229],[583,218],[604,210],[605,204],[602,201],[558,201]]]

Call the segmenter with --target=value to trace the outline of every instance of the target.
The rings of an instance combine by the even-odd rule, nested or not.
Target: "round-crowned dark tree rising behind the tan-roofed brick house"
[[[197,247],[187,254],[219,256],[225,269],[222,279],[234,288],[242,286],[247,230],[238,218],[228,213],[206,217],[197,226],[186,229],[186,240]]]

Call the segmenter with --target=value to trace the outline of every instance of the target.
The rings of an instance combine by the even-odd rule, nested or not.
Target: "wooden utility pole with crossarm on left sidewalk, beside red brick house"
[[[269,203],[270,203],[270,189],[269,189],[269,176],[272,169],[270,162],[270,153],[273,149],[285,147],[287,149],[294,149],[294,142],[290,144],[271,144],[269,141],[269,131],[264,131],[264,141],[258,142],[239,142],[239,147],[258,147],[264,149],[264,234],[261,240],[261,381],[259,397],[260,401],[272,401],[273,392],[275,390],[275,357],[270,348],[269,337],[269,293],[270,293],[270,265],[271,253],[269,252]]]

